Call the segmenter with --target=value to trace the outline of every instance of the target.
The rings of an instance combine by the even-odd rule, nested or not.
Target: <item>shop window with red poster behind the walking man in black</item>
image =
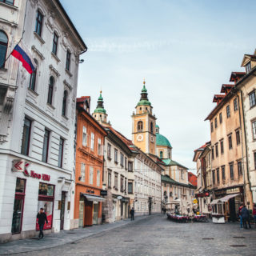
[[[44,209],[48,223],[45,223],[44,230],[50,230],[53,222],[53,208],[54,208],[54,185],[39,183],[38,190],[38,211],[40,208]],[[39,230],[38,220],[36,230]]]

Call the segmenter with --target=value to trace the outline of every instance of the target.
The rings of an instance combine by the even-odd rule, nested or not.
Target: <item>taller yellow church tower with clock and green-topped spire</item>
[[[143,82],[140,101],[132,115],[132,138],[135,146],[138,146],[146,154],[156,155],[155,116],[152,114],[153,106],[147,97],[147,90]]]

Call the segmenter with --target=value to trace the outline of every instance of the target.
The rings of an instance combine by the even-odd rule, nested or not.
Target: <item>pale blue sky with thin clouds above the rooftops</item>
[[[256,48],[255,1],[61,0],[88,51],[78,97],[91,111],[102,90],[114,129],[131,139],[131,114],[146,79],[160,134],[173,160],[195,172],[194,150],[210,141],[204,121],[214,94]]]

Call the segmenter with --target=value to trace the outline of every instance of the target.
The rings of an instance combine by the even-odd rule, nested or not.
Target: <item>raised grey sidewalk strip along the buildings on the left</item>
[[[150,218],[150,216],[149,215],[138,216],[135,218],[134,222],[138,222],[144,218]],[[61,231],[59,233],[47,234],[41,240],[38,240],[38,238],[27,238],[22,240],[16,240],[13,242],[7,242],[4,244],[0,244],[0,255],[20,254],[20,253],[26,253],[26,252],[35,251],[35,250],[44,250],[47,248],[54,248],[57,246],[65,245],[67,243],[74,243],[83,238],[88,238],[94,234],[100,234],[102,232],[113,230],[120,226],[129,225],[134,222],[131,222],[130,218],[128,218],[126,220],[122,220],[114,223],[107,223],[103,225],[79,228],[76,230],[66,230],[66,231]]]

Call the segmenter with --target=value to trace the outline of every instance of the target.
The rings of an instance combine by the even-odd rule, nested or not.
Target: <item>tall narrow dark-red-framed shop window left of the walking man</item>
[[[25,199],[26,180],[17,178],[14,198],[14,212],[11,233],[18,234],[22,231],[23,207]]]

